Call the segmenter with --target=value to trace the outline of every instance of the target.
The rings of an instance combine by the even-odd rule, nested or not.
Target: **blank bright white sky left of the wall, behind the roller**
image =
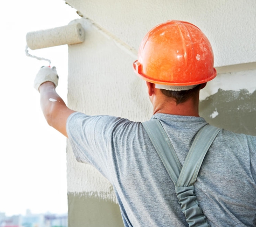
[[[27,32],[64,26],[80,18],[64,0],[5,0],[0,7],[1,137],[0,212],[67,212],[66,138],[47,125],[33,88],[46,61],[25,55]],[[67,96],[67,45],[29,51],[52,61]]]

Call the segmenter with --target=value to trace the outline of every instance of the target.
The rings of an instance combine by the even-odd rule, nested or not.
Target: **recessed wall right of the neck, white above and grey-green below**
[[[255,69],[218,74],[200,93],[200,116],[217,127],[256,136],[255,76]]]

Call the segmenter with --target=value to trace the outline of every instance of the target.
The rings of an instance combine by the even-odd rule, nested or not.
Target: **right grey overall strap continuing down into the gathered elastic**
[[[193,184],[197,179],[205,154],[219,131],[220,129],[211,125],[205,125],[198,131],[189,153],[186,155],[178,183],[175,187],[178,202],[190,227],[210,227],[197,201]]]

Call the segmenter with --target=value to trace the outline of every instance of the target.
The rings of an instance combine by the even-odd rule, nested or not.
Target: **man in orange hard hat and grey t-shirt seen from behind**
[[[198,104],[200,89],[217,74],[209,40],[187,22],[160,24],[142,40],[134,69],[146,80],[152,118],[183,166],[198,131],[207,126]],[[218,130],[192,183],[188,210],[187,203],[181,208],[154,130],[150,135],[144,123],[75,112],[58,96],[57,85],[56,68],[39,70],[34,87],[44,116],[70,139],[78,161],[93,165],[113,184],[125,226],[256,226],[255,137]]]

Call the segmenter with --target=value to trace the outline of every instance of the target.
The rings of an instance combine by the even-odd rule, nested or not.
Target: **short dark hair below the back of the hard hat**
[[[191,97],[195,97],[195,95],[198,93],[200,88],[201,88],[201,84],[198,84],[198,86],[190,90],[183,90],[183,91],[171,91],[171,90],[164,90],[164,89],[160,89],[160,90],[165,96],[174,98],[176,100],[176,103],[179,104],[187,101]]]

